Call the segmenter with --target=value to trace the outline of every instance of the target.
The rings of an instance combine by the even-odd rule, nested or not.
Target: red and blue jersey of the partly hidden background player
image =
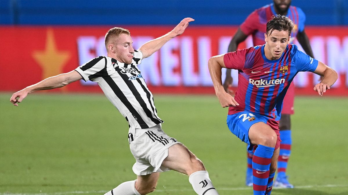
[[[253,11],[245,21],[240,25],[240,29],[246,35],[252,35],[254,45],[264,44],[264,33],[266,33],[266,24],[273,15],[276,15],[273,3]],[[304,30],[306,15],[299,7],[290,6],[287,15],[294,22],[294,28],[291,32],[290,44],[296,38],[298,32]]]

